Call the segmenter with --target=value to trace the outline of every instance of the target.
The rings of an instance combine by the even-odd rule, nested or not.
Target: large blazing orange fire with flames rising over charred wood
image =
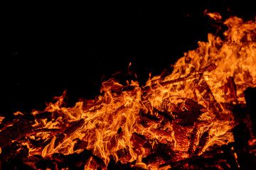
[[[1,151],[15,142],[17,153],[28,149],[23,162],[35,169],[30,159],[58,161],[60,154],[84,155],[78,165],[84,169],[107,169],[112,159],[158,169],[233,142],[238,122],[232,108],[245,105],[243,92],[256,87],[256,23],[232,17],[223,24],[225,38],[209,33],[208,42],[184,53],[166,77],[149,77],[144,86],[110,79],[102,83],[102,95],[73,108],[65,107],[64,91],[31,119],[14,113],[14,123],[1,129]],[[20,134],[7,135],[10,130]]]

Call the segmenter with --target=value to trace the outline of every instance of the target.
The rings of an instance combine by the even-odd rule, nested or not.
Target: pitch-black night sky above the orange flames
[[[120,81],[131,79],[129,62],[144,84],[149,72],[170,69],[215,33],[206,9],[224,19],[256,16],[250,1],[11,4],[2,24],[8,47],[1,56],[0,114],[43,110],[65,89],[70,103],[94,98],[115,72]]]

